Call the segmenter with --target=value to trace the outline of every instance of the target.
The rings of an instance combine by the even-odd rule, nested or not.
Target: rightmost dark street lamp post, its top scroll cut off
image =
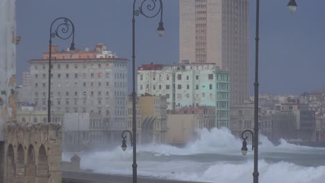
[[[297,9],[297,3],[295,0],[290,0],[288,3],[290,12],[294,12]],[[246,132],[250,132],[252,135],[252,149],[254,150],[254,171],[253,171],[253,183],[258,183],[258,41],[259,41],[259,23],[260,23],[260,0],[256,0],[256,37],[255,37],[255,82],[254,82],[254,132],[251,130],[244,130],[242,132],[242,154],[247,153],[247,137],[244,137]]]

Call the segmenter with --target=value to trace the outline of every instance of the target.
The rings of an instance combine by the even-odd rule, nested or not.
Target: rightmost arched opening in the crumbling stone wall
[[[38,181],[36,182],[47,182],[47,179],[49,177],[49,164],[47,163],[47,160],[47,151],[45,150],[45,147],[42,144],[40,146],[40,149],[38,150],[38,168],[36,175],[36,179]]]

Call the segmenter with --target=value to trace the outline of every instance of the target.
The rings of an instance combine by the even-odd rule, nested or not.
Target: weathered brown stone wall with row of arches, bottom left
[[[7,123],[6,182],[61,183],[59,123]]]

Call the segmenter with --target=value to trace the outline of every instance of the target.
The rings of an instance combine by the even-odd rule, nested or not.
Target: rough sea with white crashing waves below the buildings
[[[253,182],[253,150],[241,154],[241,139],[228,129],[198,130],[184,148],[162,144],[137,146],[138,175],[197,182]],[[260,135],[258,172],[263,183],[324,183],[325,148],[296,146],[281,140],[274,146]],[[96,173],[132,175],[133,149],[80,153],[81,168]],[[69,153],[63,160],[69,160]]]

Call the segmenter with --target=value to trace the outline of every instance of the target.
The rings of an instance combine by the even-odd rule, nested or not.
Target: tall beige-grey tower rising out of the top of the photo
[[[180,62],[215,63],[231,75],[231,105],[249,99],[249,0],[180,0]]]

